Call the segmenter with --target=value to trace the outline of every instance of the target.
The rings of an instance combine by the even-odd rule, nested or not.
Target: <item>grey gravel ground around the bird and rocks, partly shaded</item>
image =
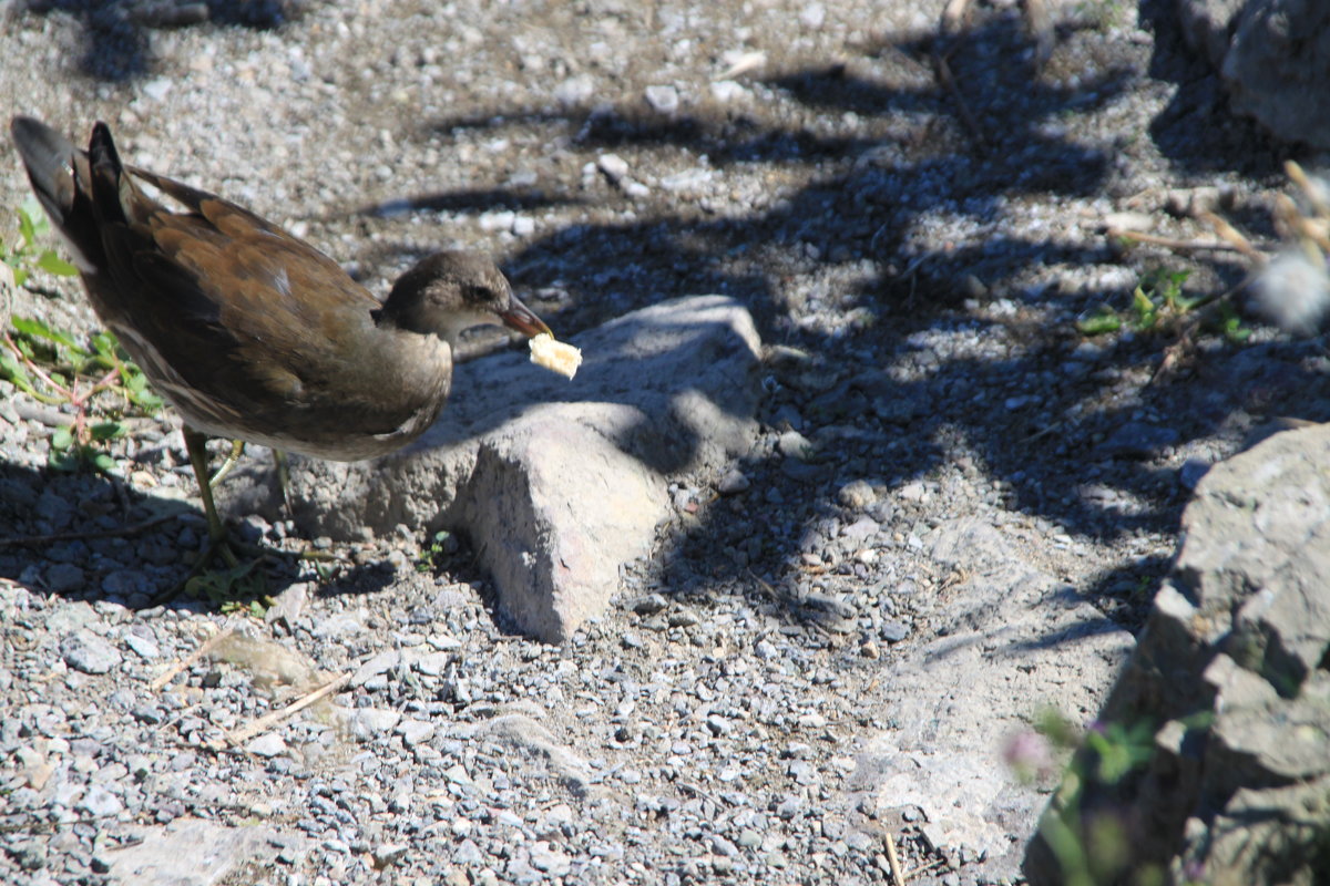
[[[887,833],[919,882],[988,882],[850,778],[891,720],[876,675],[946,622],[928,539],[982,515],[1134,628],[1205,466],[1330,417],[1319,341],[1202,331],[1154,380],[1172,337],[1075,328],[1161,268],[1192,294],[1245,274],[1108,223],[1209,239],[1188,209],[1216,207],[1273,236],[1282,155],[1170,4],[1057,8],[1041,72],[1004,3],[958,44],[932,1],[313,0],[178,29],[132,15],[162,4],[33,5],[0,5],[7,112],[106,120],[130,162],[371,288],[471,246],[563,333],[722,292],[774,352],[757,446],[672,490],[658,554],[563,648],[505,632],[466,542],[410,535],[287,567],[266,623],[154,607],[206,535],[172,417],[134,420],[110,476],[53,473],[68,418],[5,388],[0,535],[57,537],[0,546],[5,882],[101,882],[130,825],[182,817],[281,834],[243,882],[849,885],[887,877]],[[0,206],[25,186],[9,155]],[[96,328],[76,284],[37,284],[13,313]],[[214,751],[344,672],[339,708]]]

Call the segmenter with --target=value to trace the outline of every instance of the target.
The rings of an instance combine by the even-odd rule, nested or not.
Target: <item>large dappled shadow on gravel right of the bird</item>
[[[1148,384],[1169,344],[1158,336],[1096,345],[1093,361],[1073,365],[1069,355],[1081,337],[1072,317],[1101,302],[1124,307],[1129,294],[1117,286],[1061,291],[1028,283],[1031,270],[1040,267],[1125,266],[1144,275],[1158,263],[1157,255],[1124,254],[1107,238],[1071,243],[1053,231],[1035,238],[1009,224],[1032,202],[1123,197],[1116,163],[1132,139],[1148,137],[1188,169],[1277,170],[1278,151],[1246,124],[1225,120],[1218,101],[1193,101],[1217,94],[1213,77],[1186,61],[1162,7],[1141,7],[1142,20],[1160,36],[1148,70],[1125,60],[1097,65],[1108,73],[1080,81],[1057,70],[1055,53],[1051,69],[1035,72],[1015,13],[988,12],[962,45],[916,35],[863,49],[924,68],[935,64],[934,50],[944,52],[954,89],[936,78],[922,86],[871,82],[846,66],[787,70],[762,81],[809,116],[857,121],[842,135],[767,120],[761,110],[721,106],[665,117],[636,105],[597,105],[560,113],[496,108],[484,118],[428,121],[403,137],[535,128],[567,139],[588,161],[612,150],[682,151],[693,159],[705,154],[706,174],[751,166],[797,173],[790,181],[798,185],[755,195],[761,199],[751,213],[732,218],[664,189],[636,203],[616,193],[622,206],[636,209],[636,221],[569,226],[532,242],[505,267],[517,288],[557,282],[567,292],[557,321],[565,332],[669,298],[734,296],[751,310],[766,343],[806,355],[793,371],[773,369],[766,425],[810,438],[819,429],[849,429],[797,470],[769,449],[745,460],[741,466],[753,482],[746,499],[704,507],[700,525],[668,553],[673,590],[733,578],[761,595],[754,579],[779,584],[797,571],[801,554],[826,541],[823,526],[845,517],[837,502],[843,484],[868,478],[896,490],[942,476],[958,453],[1000,486],[1008,509],[1061,531],[1096,542],[1166,534],[1189,491],[1161,456],[1224,437],[1230,425],[1240,434],[1264,416],[1302,414],[1303,404],[1323,400],[1326,380],[1297,348],[1220,343],[1172,380]],[[134,61],[142,54],[141,35],[117,27],[102,36],[94,23],[110,13],[98,12],[98,4],[48,8],[88,16],[89,40],[126,41],[125,68],[116,76],[144,73]],[[1069,134],[1064,121],[1113,102],[1144,77],[1181,84],[1148,133],[1096,142]],[[555,182],[539,191],[403,195],[362,211],[479,213],[585,199],[572,185]],[[912,231],[943,221],[984,235],[920,248],[927,238]],[[394,251],[410,252],[388,244],[367,255],[388,259]],[[1193,286],[1205,291],[1233,286],[1245,274],[1222,258],[1196,267]],[[999,298],[1005,313],[988,310]],[[1045,307],[1053,311],[1041,312]],[[994,325],[1005,327],[1013,341],[1000,356],[955,356],[942,348],[947,337]],[[912,372],[892,373],[892,365]],[[1315,393],[1321,396],[1310,396]],[[751,555],[735,557],[741,547]],[[835,569],[858,575],[855,565]],[[1136,624],[1149,599],[1142,582],[1153,586],[1162,569],[1142,561],[1112,570],[1087,594]],[[794,608],[791,618],[798,618]]]

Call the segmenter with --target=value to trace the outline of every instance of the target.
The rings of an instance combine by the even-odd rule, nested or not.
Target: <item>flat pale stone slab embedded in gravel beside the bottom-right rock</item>
[[[932,845],[974,846],[994,877],[1013,878],[1047,797],[1005,765],[1003,737],[1028,729],[1032,704],[1095,707],[1133,640],[982,518],[944,523],[930,553],[971,578],[952,588],[940,636],[899,647],[883,668],[898,725],[866,740],[850,778],[872,786],[879,809],[922,809]],[[904,624],[883,627],[904,638]],[[942,700],[916,691],[942,684]]]

